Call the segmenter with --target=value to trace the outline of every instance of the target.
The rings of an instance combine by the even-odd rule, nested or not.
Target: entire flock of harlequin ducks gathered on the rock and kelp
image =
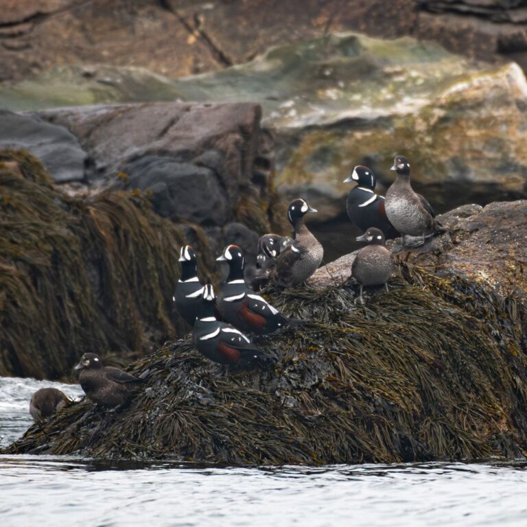
[[[347,212],[350,220],[364,231],[357,240],[366,242],[351,265],[351,275],[360,285],[361,303],[365,286],[385,285],[388,290],[393,260],[385,239],[401,236],[403,246],[416,246],[416,239],[417,244],[423,244],[427,237],[442,231],[428,201],[410,185],[410,163],[406,157],[396,156],[391,169],[397,172],[397,178],[386,198],[375,194],[375,175],[368,167],[356,166],[344,181],[357,183],[349,191]],[[257,281],[293,288],[309,279],[320,266],[324,251],[305,226],[308,213],[316,213],[316,209],[301,198],[293,200],[288,207],[293,236],[266,234],[259,239]],[[173,301],[180,316],[192,327],[196,349],[209,360],[227,366],[248,368],[272,361],[246,333],[272,333],[304,321],[281,314],[246,285],[242,248],[228,245],[217,260],[229,265],[229,275],[220,284],[216,298],[211,284],[200,283],[194,250],[189,245],[180,249],[181,273]],[[109,408],[128,403],[144,382],[119,368],[104,366],[95,353],[82,355],[75,369],[80,371],[79,382],[86,396]],[[41,388],[31,399],[30,413],[40,422],[68,401],[56,388]]]

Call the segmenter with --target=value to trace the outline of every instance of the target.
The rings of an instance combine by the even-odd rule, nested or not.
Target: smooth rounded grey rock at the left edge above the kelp
[[[86,152],[63,126],[35,115],[0,110],[0,148],[24,148],[42,161],[58,183],[84,180]]]

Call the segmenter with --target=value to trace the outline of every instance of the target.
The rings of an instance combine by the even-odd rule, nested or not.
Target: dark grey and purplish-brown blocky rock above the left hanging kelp
[[[154,211],[180,229],[204,229],[211,247],[271,230],[279,197],[272,188],[273,138],[258,104],[145,103],[3,112],[0,145],[43,156],[71,192],[144,192]],[[233,225],[243,224],[239,236]],[[192,237],[192,235],[191,235]]]

